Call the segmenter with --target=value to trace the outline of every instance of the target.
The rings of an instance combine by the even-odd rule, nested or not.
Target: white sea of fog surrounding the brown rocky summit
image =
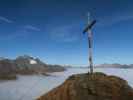
[[[133,69],[95,68],[95,71],[120,76],[133,87]],[[52,76],[28,75],[18,76],[17,80],[0,81],[0,100],[35,100],[63,83],[68,76],[85,72],[88,69],[69,68],[65,72],[52,73]]]

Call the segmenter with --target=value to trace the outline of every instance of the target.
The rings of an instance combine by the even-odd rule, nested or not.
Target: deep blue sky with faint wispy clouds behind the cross
[[[0,56],[28,54],[50,64],[88,64],[91,12],[95,64],[133,63],[132,0],[0,0]]]

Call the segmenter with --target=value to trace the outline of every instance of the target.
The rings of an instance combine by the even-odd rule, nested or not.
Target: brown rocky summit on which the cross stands
[[[133,100],[133,89],[116,76],[78,74],[37,100]]]

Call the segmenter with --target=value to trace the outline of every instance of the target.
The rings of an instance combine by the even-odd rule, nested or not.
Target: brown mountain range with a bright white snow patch
[[[0,57],[0,79],[15,79],[17,74],[44,74],[47,72],[60,72],[65,68],[60,65],[49,65],[39,58],[28,55],[19,56],[16,59]]]

